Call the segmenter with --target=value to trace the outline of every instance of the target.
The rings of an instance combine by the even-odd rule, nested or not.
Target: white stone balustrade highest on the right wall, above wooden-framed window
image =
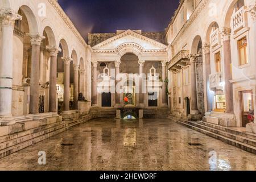
[[[246,27],[246,11],[245,7],[241,7],[234,15],[232,16],[233,31],[238,31],[243,27]]]

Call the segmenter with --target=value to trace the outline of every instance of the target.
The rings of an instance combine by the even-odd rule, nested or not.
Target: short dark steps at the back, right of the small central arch
[[[143,109],[143,118],[167,118],[168,117],[168,107],[147,107]]]

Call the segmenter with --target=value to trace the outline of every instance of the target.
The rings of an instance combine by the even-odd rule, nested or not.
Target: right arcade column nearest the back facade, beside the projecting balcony
[[[196,114],[198,112],[197,108],[197,92],[196,92],[196,58],[199,55],[191,54],[189,56],[190,59],[190,67],[191,67],[191,110],[193,113]]]

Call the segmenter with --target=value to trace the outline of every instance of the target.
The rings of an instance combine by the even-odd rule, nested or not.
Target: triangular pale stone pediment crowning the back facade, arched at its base
[[[100,44],[97,44],[92,49],[95,51],[104,51],[104,50],[117,50],[120,47],[125,45],[136,46],[139,49],[144,51],[148,50],[163,50],[166,49],[167,46],[157,42],[156,40],[147,38],[137,32],[127,30],[114,36],[113,38],[107,39]]]

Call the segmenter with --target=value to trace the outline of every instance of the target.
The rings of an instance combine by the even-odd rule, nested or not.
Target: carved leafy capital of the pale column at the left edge
[[[22,20],[22,16],[12,9],[0,9],[0,24],[14,26],[15,20]]]

